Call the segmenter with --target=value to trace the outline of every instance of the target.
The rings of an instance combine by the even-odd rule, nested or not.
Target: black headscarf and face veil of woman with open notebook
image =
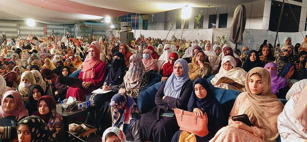
[[[120,59],[114,59],[111,63],[111,68],[109,70],[107,80],[110,85],[119,85],[122,84],[125,76],[125,71],[128,70],[125,64],[124,54],[121,52],[115,52],[114,56],[119,56]]]

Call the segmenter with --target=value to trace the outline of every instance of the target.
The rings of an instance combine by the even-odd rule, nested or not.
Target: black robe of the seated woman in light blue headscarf
[[[174,110],[168,109],[169,107],[188,110],[188,101],[193,91],[192,81],[188,80],[185,82],[179,99],[166,96],[162,100],[165,83],[166,81],[156,93],[155,103],[157,106],[144,114],[140,120],[141,141],[171,141],[173,135],[179,130],[176,116],[162,117],[160,114],[174,113]]]

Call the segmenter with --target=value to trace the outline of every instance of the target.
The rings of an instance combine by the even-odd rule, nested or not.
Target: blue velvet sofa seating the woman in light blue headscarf
[[[235,90],[223,89],[223,88],[216,88],[213,87],[210,80],[213,78],[214,75],[207,79],[208,83],[210,84],[210,88],[212,90],[212,94],[216,97],[216,99],[221,103],[225,118],[228,124],[228,117],[229,113],[232,109],[233,104],[235,103],[235,99],[241,93]],[[142,114],[147,113],[150,109],[156,106],[154,102],[155,96],[159,88],[161,87],[163,81],[158,82],[147,89],[143,89],[142,92],[138,95],[138,108],[140,109]],[[279,99],[285,105],[287,100]],[[277,142],[280,142],[280,136],[277,139]]]

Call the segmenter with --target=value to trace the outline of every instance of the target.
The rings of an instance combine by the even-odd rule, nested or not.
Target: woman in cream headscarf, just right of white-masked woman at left
[[[41,76],[41,73],[37,70],[31,70],[30,72],[33,73],[36,84],[40,85],[43,88],[45,95],[53,96],[50,84],[44,81],[44,78]]]

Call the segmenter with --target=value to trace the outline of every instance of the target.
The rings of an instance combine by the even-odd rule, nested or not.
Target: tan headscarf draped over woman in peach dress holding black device
[[[254,73],[260,74],[263,82],[263,91],[261,94],[252,94],[248,86],[248,81],[245,82],[247,90],[247,98],[250,106],[245,110],[252,124],[258,122],[259,127],[263,129],[263,141],[276,141],[279,133],[277,129],[277,118],[282,112],[284,105],[272,94],[271,74],[268,70],[261,67],[251,69],[246,76],[249,80]]]

